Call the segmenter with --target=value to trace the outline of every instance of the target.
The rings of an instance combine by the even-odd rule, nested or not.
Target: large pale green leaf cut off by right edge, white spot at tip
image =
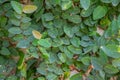
[[[109,57],[120,58],[120,46],[118,45],[101,46],[101,49]]]

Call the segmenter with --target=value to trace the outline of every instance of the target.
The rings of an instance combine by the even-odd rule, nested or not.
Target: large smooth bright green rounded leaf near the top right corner
[[[104,17],[107,13],[107,8],[105,6],[97,6],[93,11],[93,19],[97,20]]]

